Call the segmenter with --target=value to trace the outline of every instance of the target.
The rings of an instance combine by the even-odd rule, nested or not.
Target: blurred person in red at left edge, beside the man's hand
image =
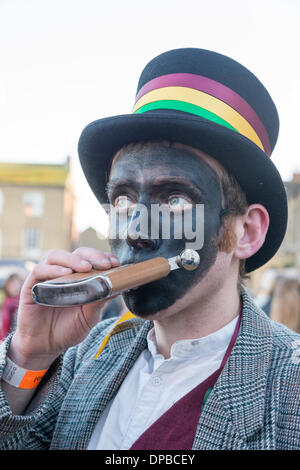
[[[19,274],[11,274],[5,281],[5,297],[1,306],[0,341],[4,340],[16,325],[20,292],[24,279]]]

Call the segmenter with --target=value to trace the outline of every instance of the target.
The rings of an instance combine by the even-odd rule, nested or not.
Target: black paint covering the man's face
[[[172,194],[187,198],[194,205],[204,204],[204,244],[198,253],[201,263],[195,271],[172,271],[166,278],[123,294],[129,310],[146,318],[170,307],[183,297],[209,271],[218,253],[222,210],[221,189],[215,171],[200,157],[185,148],[148,144],[125,150],[115,161],[109,183],[109,199],[125,195],[135,204],[147,208],[164,204]],[[195,207],[192,209],[195,227]],[[126,219],[130,233],[132,218]],[[111,239],[111,250],[121,264],[137,263],[156,256],[170,258],[178,255],[191,240],[175,239],[171,217],[171,238],[158,240]],[[161,228],[161,227],[160,227]],[[119,226],[119,230],[124,227]],[[149,235],[149,234],[147,234]],[[161,235],[161,233],[160,233]]]

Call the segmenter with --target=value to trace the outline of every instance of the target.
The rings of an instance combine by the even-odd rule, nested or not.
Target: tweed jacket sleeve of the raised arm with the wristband
[[[0,388],[0,450],[50,448],[57,417],[76,370],[80,368],[86,352],[90,351],[95,337],[100,336],[100,340],[103,339],[112,323],[111,319],[100,322],[82,343],[69,348],[57,359],[43,378],[23,415],[12,414]],[[11,337],[12,334],[0,346],[0,379]]]

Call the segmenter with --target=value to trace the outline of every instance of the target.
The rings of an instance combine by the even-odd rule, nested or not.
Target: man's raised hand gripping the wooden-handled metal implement
[[[72,272],[110,269],[119,266],[112,255],[93,248],[77,248],[73,253],[53,250],[44,263],[35,266],[24,282],[18,310],[17,328],[9,357],[25,369],[41,370],[67,348],[80,343],[100,319],[107,301],[73,307],[45,307],[34,302],[31,289],[37,282]]]

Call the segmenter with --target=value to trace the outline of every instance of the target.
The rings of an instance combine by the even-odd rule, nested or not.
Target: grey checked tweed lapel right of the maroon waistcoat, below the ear
[[[246,449],[263,426],[270,324],[247,293],[242,297],[239,335],[203,409],[195,449]]]

